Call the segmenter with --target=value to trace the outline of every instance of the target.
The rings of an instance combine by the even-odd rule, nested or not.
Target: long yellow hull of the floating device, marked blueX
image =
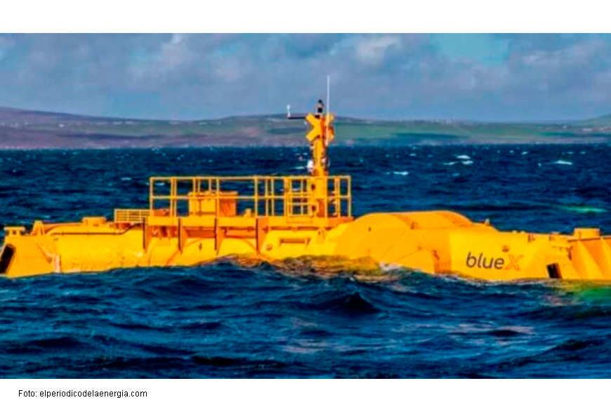
[[[368,259],[431,274],[476,279],[611,280],[611,236],[499,232],[446,211],[350,217],[189,215],[145,222],[42,224],[6,228],[7,277],[191,266],[232,255],[274,262],[302,256]]]

